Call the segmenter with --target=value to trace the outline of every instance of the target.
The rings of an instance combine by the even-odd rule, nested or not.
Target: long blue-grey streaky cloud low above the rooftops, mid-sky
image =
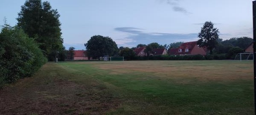
[[[117,32],[125,33],[126,36],[116,39],[116,43],[122,46],[135,47],[137,44],[149,44],[157,42],[159,44],[169,44],[173,42],[194,41],[197,40],[198,33],[177,34],[177,33],[160,33],[144,32],[145,29],[135,27],[119,27],[114,29]]]

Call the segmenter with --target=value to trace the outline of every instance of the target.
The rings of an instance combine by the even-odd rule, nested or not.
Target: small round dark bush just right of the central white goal
[[[123,56],[125,60],[133,60],[135,52],[133,49],[126,47],[120,51],[119,55]]]

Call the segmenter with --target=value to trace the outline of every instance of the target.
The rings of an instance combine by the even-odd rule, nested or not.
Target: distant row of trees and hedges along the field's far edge
[[[222,40],[218,35],[219,31],[217,28],[214,28],[214,24],[210,21],[206,21],[201,28],[201,31],[198,33],[199,40],[197,44],[199,47],[204,47],[208,50],[207,55],[204,59],[234,59],[237,53],[244,52],[244,49],[252,43],[253,39],[250,37],[239,37],[239,38],[230,38],[229,40]],[[138,44],[136,47],[128,48],[128,47],[119,47],[117,49],[116,43],[110,37],[103,37],[101,35],[95,35],[91,37],[91,39],[84,44],[87,49],[88,57],[98,58],[103,57],[104,55],[109,56],[123,56],[125,60],[144,60],[144,59],[153,59],[149,58],[150,54],[153,54],[153,49],[157,48],[165,48],[166,50],[172,48],[178,48],[183,42],[175,42],[170,43],[169,45],[164,44],[160,45],[158,43],[149,43],[146,44]],[[138,58],[135,55],[134,49],[139,47],[145,47],[145,54],[147,54],[146,58]],[[189,58],[166,58],[166,56],[162,56],[164,59],[194,59],[193,56],[187,56]],[[192,57],[192,58],[191,58]],[[198,58],[196,59],[203,59]],[[160,59],[157,56],[154,59]]]

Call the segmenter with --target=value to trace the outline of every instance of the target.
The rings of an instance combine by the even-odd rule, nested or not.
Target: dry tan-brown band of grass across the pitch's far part
[[[110,70],[111,74],[148,72],[159,78],[185,77],[203,81],[253,79],[252,61],[223,60],[224,63],[220,63],[221,61],[125,61],[96,64],[96,66]]]

